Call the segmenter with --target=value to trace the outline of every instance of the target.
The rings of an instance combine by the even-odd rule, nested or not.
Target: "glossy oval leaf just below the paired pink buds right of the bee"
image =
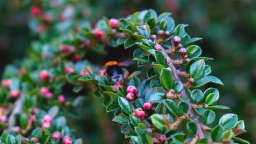
[[[118,103],[126,115],[131,115],[134,112],[132,104],[123,97],[118,98]]]

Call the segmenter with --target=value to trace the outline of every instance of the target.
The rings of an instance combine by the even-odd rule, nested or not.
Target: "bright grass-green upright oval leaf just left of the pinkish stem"
[[[169,69],[162,69],[160,74],[160,83],[167,91],[173,88],[174,78]]]

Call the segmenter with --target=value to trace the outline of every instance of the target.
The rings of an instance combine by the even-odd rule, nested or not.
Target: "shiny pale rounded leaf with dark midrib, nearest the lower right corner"
[[[233,113],[227,113],[219,119],[219,125],[222,125],[226,130],[232,129],[237,123],[237,115]]]

